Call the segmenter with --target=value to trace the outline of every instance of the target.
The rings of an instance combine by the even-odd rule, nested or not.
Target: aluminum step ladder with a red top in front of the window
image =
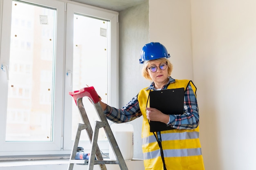
[[[79,113],[83,120],[83,124],[78,124],[77,132],[76,132],[76,139],[74,141],[72,153],[70,155],[70,163],[68,166],[68,170],[73,170],[74,164],[88,165],[88,170],[93,170],[94,165],[99,165],[101,170],[107,170],[106,164],[119,164],[119,167],[121,170],[128,170],[128,168],[126,166],[126,162],[124,161],[121,151],[117,145],[117,141],[115,140],[115,137],[114,137],[112,130],[111,130],[111,128],[108,124],[108,121],[106,119],[106,116],[103,113],[103,110],[99,103],[99,95],[95,91],[94,87],[93,86],[85,87],[85,88],[80,89],[79,91],[69,92],[69,94],[74,98],[76,106],[78,107]],[[94,105],[94,108],[96,109],[96,112],[100,119],[100,121],[95,121],[94,131],[92,130],[88,116],[87,116],[85,108],[83,106],[83,97],[88,97],[90,99],[90,101]],[[117,158],[116,161],[103,160],[101,151],[99,150],[99,146],[97,144],[99,128],[104,128],[105,133],[108,137],[110,146],[112,147],[114,154]],[[88,160],[76,160],[75,159],[78,144],[79,144],[79,139],[80,139],[80,135],[81,135],[81,130],[86,130],[89,140],[90,140],[90,143],[91,143],[90,156],[89,156]],[[95,157],[97,160],[95,160]]]

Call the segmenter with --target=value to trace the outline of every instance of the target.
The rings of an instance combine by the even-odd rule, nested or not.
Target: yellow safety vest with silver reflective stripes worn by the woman
[[[175,80],[168,88],[182,88],[190,83],[189,80]],[[195,93],[195,86],[190,83]],[[142,89],[138,101],[143,115],[142,151],[145,170],[163,170],[160,148],[146,117],[146,104],[150,90]],[[192,130],[165,130],[161,132],[164,161],[167,170],[204,170],[199,126]]]

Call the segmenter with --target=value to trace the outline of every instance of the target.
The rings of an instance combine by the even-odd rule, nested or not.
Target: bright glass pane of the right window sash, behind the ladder
[[[94,86],[105,102],[108,100],[108,26],[109,21],[74,14],[73,91]],[[83,104],[90,124],[94,127],[94,121],[99,121],[95,108],[86,97]],[[74,101],[72,106],[74,140],[77,124],[83,122]],[[80,139],[88,140],[85,130]],[[107,140],[103,128],[99,129],[98,140]]]

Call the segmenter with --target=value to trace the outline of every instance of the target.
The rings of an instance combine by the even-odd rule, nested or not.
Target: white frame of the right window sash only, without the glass
[[[103,20],[110,21],[110,51],[108,56],[108,101],[110,106],[118,106],[118,57],[117,57],[117,33],[118,33],[118,22],[117,22],[117,12],[102,10],[98,8],[92,8],[87,5],[76,5],[67,4],[67,23],[74,23],[74,14],[87,15],[95,18],[100,18]],[[73,24],[67,25],[66,28],[66,62],[65,62],[65,72],[71,71],[73,67]],[[97,51],[95,52],[97,53]],[[100,69],[100,68],[99,68]],[[111,73],[111,74],[110,74]],[[96,77],[97,78],[97,77]],[[100,78],[100,77],[98,77]],[[66,75],[65,81],[65,114],[64,114],[64,150],[70,150],[72,148],[73,142],[71,141],[71,119],[72,119],[72,102],[74,99],[69,95],[69,91],[72,91],[72,86],[70,86],[70,78]],[[79,89],[77,89],[79,90]],[[110,93],[111,92],[111,93]],[[92,125],[93,127],[93,125]],[[83,146],[85,152],[90,151],[89,141],[80,141],[79,144]],[[108,152],[109,142],[108,141],[98,141],[99,148],[103,152]]]

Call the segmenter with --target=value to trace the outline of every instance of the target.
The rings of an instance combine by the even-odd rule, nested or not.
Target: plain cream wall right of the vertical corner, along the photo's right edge
[[[191,0],[194,78],[208,169],[256,167],[255,9],[254,0]]]

